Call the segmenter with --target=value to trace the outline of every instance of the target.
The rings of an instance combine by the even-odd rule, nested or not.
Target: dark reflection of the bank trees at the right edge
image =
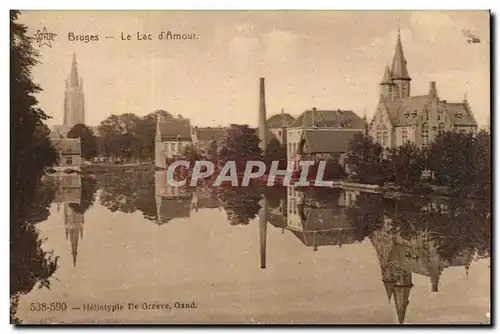
[[[457,198],[402,197],[384,199],[361,193],[348,215],[359,239],[381,228],[383,219],[391,222],[392,233],[411,239],[427,231],[439,254],[448,260],[470,250],[485,258],[491,252],[491,216],[488,202]]]

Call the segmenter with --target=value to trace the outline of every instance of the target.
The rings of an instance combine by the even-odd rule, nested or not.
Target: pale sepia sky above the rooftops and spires
[[[51,47],[34,43],[41,63],[32,74],[49,125],[63,121],[73,52],[88,125],[163,109],[198,126],[255,126],[260,77],[268,116],[316,107],[370,117],[398,25],[411,94],[426,94],[436,81],[441,99],[458,102],[466,93],[479,126],[489,124],[487,11],[23,11],[20,21],[31,36],[44,27],[57,34]],[[463,29],[481,43],[468,44]],[[159,40],[161,31],[197,39]],[[138,32],[153,40],[137,40]],[[70,41],[70,33],[99,40]]]

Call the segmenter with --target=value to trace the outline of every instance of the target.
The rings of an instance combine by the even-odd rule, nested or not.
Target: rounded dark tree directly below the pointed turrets
[[[397,185],[402,186],[404,190],[409,190],[420,182],[426,165],[426,157],[415,144],[406,143],[392,148],[389,151],[389,158],[391,179]]]

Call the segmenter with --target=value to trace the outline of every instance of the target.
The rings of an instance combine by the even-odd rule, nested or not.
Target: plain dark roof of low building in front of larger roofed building
[[[359,134],[353,130],[304,130],[306,153],[345,153],[349,150],[349,142]]]

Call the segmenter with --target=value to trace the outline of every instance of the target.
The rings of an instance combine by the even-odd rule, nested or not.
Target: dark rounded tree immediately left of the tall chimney
[[[220,143],[219,163],[235,161],[238,173],[243,173],[250,160],[262,161],[259,137],[248,125],[231,124]]]

